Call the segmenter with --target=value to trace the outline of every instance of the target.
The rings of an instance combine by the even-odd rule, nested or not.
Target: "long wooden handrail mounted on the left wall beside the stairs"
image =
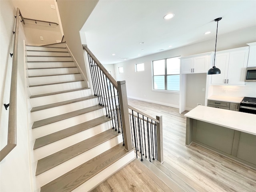
[[[2,148],[2,150],[0,151],[0,161],[2,161],[17,145],[17,72],[18,72],[19,16],[21,16],[21,13],[19,8],[17,8],[13,57],[12,57],[12,77],[11,77],[11,87],[10,87],[8,136],[7,136],[6,146]]]

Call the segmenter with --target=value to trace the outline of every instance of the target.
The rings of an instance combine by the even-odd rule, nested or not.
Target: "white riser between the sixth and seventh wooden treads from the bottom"
[[[52,93],[52,92],[58,92],[58,91],[64,91],[64,90],[79,89],[83,87],[85,87],[84,81],[78,81],[78,82],[44,85],[44,86],[35,86],[35,87],[30,87],[29,90],[32,95],[38,95],[38,94]]]

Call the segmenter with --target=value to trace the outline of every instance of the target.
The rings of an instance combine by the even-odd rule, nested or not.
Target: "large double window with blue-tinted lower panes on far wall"
[[[153,89],[180,91],[180,57],[153,61]]]

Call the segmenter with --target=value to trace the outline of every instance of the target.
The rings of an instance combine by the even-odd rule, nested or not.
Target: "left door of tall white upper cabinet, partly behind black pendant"
[[[216,53],[215,66],[220,69],[220,74],[212,75],[212,84],[225,84],[228,74],[229,52]]]

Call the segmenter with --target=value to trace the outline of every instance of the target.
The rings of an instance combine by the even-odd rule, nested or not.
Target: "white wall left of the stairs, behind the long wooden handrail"
[[[13,1],[0,1],[0,118],[1,118],[1,149],[6,145],[8,112],[3,104],[9,102],[12,53],[14,35],[14,15],[16,8]],[[26,76],[24,70],[24,30],[19,22],[18,41],[18,81],[17,81],[17,146],[0,162],[0,191],[1,192],[30,192],[33,191],[35,176],[30,174],[30,159],[26,107]]]

